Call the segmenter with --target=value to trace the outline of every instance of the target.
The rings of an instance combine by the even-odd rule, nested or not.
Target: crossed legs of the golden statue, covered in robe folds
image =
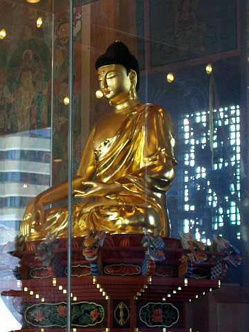
[[[90,206],[92,208],[90,208]],[[95,205],[94,201],[74,203],[72,205],[72,234],[84,236],[90,229],[105,229],[109,233],[142,233],[142,228],[153,232],[154,228],[160,232],[164,227],[160,213],[151,205],[145,203],[125,203],[109,205]],[[46,210],[42,232],[49,230],[52,234],[59,231],[59,237],[66,236],[68,223],[68,206],[60,206]],[[33,233],[39,230],[35,227]],[[43,235],[44,236],[44,235]]]

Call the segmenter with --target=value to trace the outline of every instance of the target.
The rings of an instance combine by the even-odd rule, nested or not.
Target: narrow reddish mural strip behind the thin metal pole
[[[73,173],[81,155],[81,15],[82,8],[73,13]],[[68,176],[68,69],[69,15],[55,15],[54,112],[53,112],[53,184]]]

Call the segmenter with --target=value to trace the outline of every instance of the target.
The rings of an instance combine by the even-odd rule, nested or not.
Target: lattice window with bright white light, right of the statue
[[[240,239],[239,111],[235,105],[214,109],[212,118],[209,111],[182,114],[176,124],[179,228],[207,244],[231,225]]]

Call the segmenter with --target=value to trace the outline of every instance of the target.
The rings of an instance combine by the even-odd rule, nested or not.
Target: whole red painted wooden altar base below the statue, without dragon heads
[[[178,277],[181,257],[190,252],[180,248],[178,239],[163,238],[165,259],[148,270],[149,277],[142,275],[147,250],[142,235],[107,235],[100,247],[100,276],[94,276],[91,261],[82,255],[82,241],[73,238],[72,244],[72,332],[189,332],[187,302],[220,284],[210,278],[210,261],[195,264],[187,279]],[[19,332],[62,332],[67,316],[67,239],[48,250],[55,257],[49,266],[37,259],[40,242],[29,241],[25,251],[10,257],[19,260],[15,270],[12,261],[0,267],[0,291],[10,311],[21,315]]]

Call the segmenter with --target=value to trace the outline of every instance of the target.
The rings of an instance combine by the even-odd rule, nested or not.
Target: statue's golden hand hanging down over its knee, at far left
[[[44,221],[44,206],[39,195],[35,197],[26,208],[24,218],[21,221],[21,234],[29,235],[32,225],[42,225]]]

